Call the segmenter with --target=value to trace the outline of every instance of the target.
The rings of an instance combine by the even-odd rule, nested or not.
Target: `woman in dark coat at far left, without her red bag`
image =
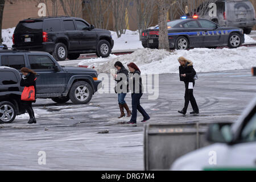
[[[23,76],[22,79],[20,80],[20,86],[34,86],[35,88],[35,97],[36,97],[36,72],[32,71],[31,69],[28,68],[22,68],[20,69],[20,72],[22,72]],[[28,121],[28,124],[36,123],[35,119],[35,113],[32,108],[32,102],[35,101],[22,101],[22,105],[25,107],[27,110],[28,114],[30,115],[30,120]]]

